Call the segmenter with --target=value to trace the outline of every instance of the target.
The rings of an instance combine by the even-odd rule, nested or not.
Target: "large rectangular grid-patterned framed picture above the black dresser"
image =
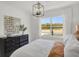
[[[17,17],[5,16],[4,17],[4,29],[6,35],[12,35],[19,33],[19,27],[21,20]]]

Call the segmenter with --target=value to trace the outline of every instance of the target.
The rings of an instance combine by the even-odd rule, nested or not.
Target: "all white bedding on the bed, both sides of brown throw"
[[[47,57],[56,41],[45,39],[35,40],[17,49],[11,57]],[[64,57],[79,57],[79,41],[73,35],[68,35],[64,38],[64,44]]]

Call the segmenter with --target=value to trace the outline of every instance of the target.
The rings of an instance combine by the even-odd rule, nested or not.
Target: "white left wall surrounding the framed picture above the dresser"
[[[21,19],[21,23],[27,27],[25,33],[30,34],[29,13],[0,2],[0,36],[4,36],[4,16],[13,16]]]

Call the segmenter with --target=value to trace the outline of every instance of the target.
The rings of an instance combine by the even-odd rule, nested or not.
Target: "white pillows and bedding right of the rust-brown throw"
[[[66,38],[64,57],[79,57],[79,41],[74,35],[68,35]]]

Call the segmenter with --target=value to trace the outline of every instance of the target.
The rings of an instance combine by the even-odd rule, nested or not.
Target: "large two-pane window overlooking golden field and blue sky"
[[[63,21],[62,16],[41,19],[41,35],[63,35]]]

